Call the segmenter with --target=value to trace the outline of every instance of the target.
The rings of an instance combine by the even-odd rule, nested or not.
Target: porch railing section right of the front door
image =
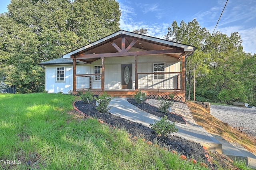
[[[138,73],[138,89],[181,90],[182,72]]]

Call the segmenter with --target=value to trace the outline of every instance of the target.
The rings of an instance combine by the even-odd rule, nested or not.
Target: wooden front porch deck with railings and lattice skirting
[[[154,80],[154,76],[164,76],[164,79]],[[100,82],[94,82],[95,76],[102,74],[76,74],[76,90],[87,91],[90,90],[96,95],[101,95],[104,91],[112,97],[134,97],[136,91],[146,93],[148,98],[164,98],[170,99],[169,94],[174,94],[174,100],[185,101],[185,93],[182,91],[182,72],[168,72],[168,73],[138,73],[138,89],[103,89],[102,79]],[[134,83],[135,83],[134,82]],[[135,83],[135,84],[137,84]],[[105,85],[104,85],[105,87]]]

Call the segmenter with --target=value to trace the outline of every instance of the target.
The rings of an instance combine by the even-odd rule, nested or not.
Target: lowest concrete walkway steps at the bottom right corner
[[[256,156],[239,144],[230,143],[217,134],[212,134],[222,144],[222,153],[234,160],[244,160],[246,165],[256,168]]]

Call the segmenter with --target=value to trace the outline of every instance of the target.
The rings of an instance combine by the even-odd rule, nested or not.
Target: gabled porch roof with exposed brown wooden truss
[[[129,51],[132,47],[138,51]],[[167,55],[180,59],[192,55],[197,47],[176,43],[160,38],[119,30],[100,40],[62,55],[66,59],[78,59],[91,63],[101,57],[119,57],[134,55]]]

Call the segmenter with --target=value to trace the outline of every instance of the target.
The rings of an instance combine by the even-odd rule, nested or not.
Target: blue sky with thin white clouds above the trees
[[[212,34],[226,0],[117,0],[122,11],[120,28],[146,28],[148,35],[163,38],[174,20],[188,24],[194,18]],[[10,0],[1,0],[0,13],[7,12]],[[239,32],[244,51],[256,53],[256,1],[228,0],[215,30],[230,36]]]

